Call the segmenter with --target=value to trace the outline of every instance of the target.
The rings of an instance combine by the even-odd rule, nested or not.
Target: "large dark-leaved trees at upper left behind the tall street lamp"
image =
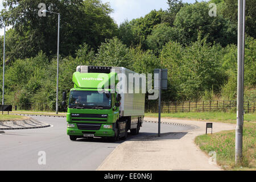
[[[20,59],[35,56],[40,50],[48,57],[57,52],[57,15],[38,15],[39,3],[46,9],[60,13],[60,54],[75,55],[82,43],[97,49],[106,38],[117,34],[117,24],[110,17],[112,9],[100,0],[5,0],[9,9],[1,11],[3,21],[14,28],[15,46],[12,47]],[[14,49],[16,48],[16,49]],[[17,58],[17,57],[16,57]]]

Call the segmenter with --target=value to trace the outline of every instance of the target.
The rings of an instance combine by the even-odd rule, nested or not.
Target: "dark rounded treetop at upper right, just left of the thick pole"
[[[217,14],[217,16],[209,16],[209,7],[207,2],[197,2],[193,5],[184,6],[177,13],[174,25],[184,30],[182,36],[185,37],[183,44],[196,42],[197,37],[208,36],[208,42],[220,43],[226,46],[230,43],[236,43],[236,26],[228,19]]]

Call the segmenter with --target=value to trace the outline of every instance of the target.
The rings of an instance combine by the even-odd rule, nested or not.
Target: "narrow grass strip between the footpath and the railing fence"
[[[158,113],[145,113],[145,117],[158,117]],[[224,122],[224,123],[236,123],[236,113],[224,113],[224,112],[204,112],[204,113],[161,113],[163,118],[184,118],[184,119],[197,119],[202,121]],[[244,114],[244,121],[256,122],[256,114],[249,113]]]

